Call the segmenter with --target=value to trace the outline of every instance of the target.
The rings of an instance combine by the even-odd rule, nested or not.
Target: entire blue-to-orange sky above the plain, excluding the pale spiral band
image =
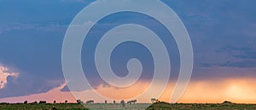
[[[61,47],[68,25],[94,0],[0,0],[0,102],[46,100],[75,102],[61,68]],[[256,102],[256,14],[253,0],[162,0],[182,19],[192,42],[194,69],[187,91],[178,102]],[[154,60],[147,48],[128,41],[116,47],[111,64],[115,74],[128,73],[131,58],[143,64],[141,79],[131,87],[116,89],[97,74],[96,41],[111,27],[136,23],[146,25],[170,43],[172,72],[160,97],[169,101],[179,70],[179,53],[163,25],[143,14],[112,14],[97,23],[84,41],[84,72],[98,93],[117,100],[136,96],[154,75]],[[172,35],[171,35],[172,36]],[[89,56],[89,57],[88,57]],[[161,82],[159,83],[161,85]],[[142,88],[138,90],[137,88]],[[90,97],[97,102],[104,99]],[[113,96],[113,92],[114,94]],[[125,93],[127,94],[119,94]],[[56,96],[60,95],[60,96]],[[140,102],[148,102],[141,99]]]

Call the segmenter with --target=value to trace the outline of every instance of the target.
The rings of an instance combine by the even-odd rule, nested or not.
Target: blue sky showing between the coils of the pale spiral
[[[84,73],[89,79],[90,84],[97,86],[104,81],[100,78],[96,70],[95,64],[95,51],[97,42],[102,38],[102,36],[108,32],[108,30],[113,29],[115,26],[124,24],[137,24],[148,27],[150,30],[154,30],[155,34],[160,36],[160,39],[166,44],[166,48],[170,54],[171,64],[172,64],[172,78],[177,77],[179,72],[179,52],[177,49],[177,44],[172,38],[171,33],[169,33],[166,28],[159,23],[159,21],[145,15],[137,14],[132,12],[124,12],[111,14],[106,18],[100,20],[88,33],[84,40],[84,46],[82,50],[82,63],[84,68]],[[84,57],[85,56],[85,57]],[[125,76],[128,74],[126,69],[126,63],[131,58],[137,58],[143,64],[143,76],[141,80],[151,80],[154,73],[154,62],[153,58],[146,49],[141,45],[134,42],[125,42],[125,44],[120,44],[112,53],[111,65],[113,72],[120,76]],[[88,74],[89,73],[89,74]]]

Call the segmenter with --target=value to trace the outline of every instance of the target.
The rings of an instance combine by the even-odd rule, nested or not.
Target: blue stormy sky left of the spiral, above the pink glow
[[[26,96],[63,84],[61,47],[67,26],[88,3],[0,1],[0,62],[18,69],[19,77],[0,97]]]

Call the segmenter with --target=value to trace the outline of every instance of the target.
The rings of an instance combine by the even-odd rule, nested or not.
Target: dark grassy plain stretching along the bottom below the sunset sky
[[[142,109],[135,107],[149,106],[147,110],[256,110],[256,104],[235,104],[235,103],[221,103],[221,104],[189,104],[177,103],[170,104],[166,102],[150,104],[132,104],[122,107],[120,104],[90,104],[85,105],[93,110],[102,109]],[[0,110],[87,110],[88,108],[76,103],[68,104],[0,104]]]

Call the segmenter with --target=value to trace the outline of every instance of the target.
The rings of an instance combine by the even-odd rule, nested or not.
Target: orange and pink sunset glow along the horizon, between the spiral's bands
[[[147,87],[149,82],[138,82],[136,85],[125,89],[117,89],[112,86],[102,86],[97,88],[97,92],[108,98],[115,99],[129,99],[132,96],[137,96],[142,93]],[[169,83],[166,91],[160,97],[160,101],[170,102],[172,96],[172,89],[175,83]],[[189,86],[181,99],[178,102],[183,103],[221,103],[224,101],[236,103],[256,103],[256,80],[247,79],[229,79],[229,80],[198,80],[191,81]],[[40,93],[31,96],[18,96],[2,98],[0,102],[29,102],[45,100],[47,102],[75,102],[75,98],[70,92],[60,91],[64,85],[57,87],[47,93]],[[121,94],[118,94],[121,93]],[[90,100],[92,91],[83,91],[85,99]],[[138,99],[138,102],[150,102],[151,97]],[[93,98],[96,102],[104,102],[105,99],[98,97]]]

